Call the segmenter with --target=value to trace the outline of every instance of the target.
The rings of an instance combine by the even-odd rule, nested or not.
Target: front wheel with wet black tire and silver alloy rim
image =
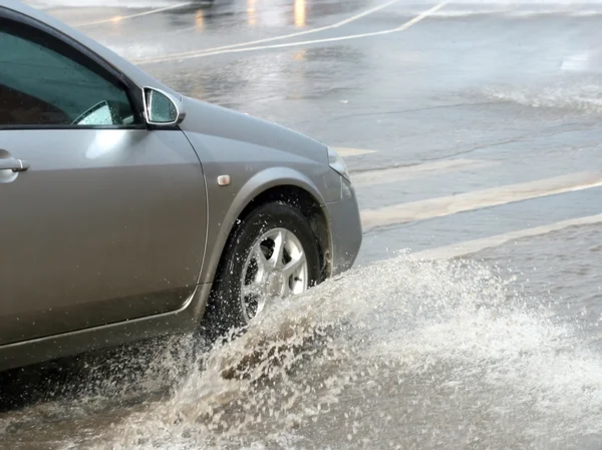
[[[275,267],[278,265],[276,242],[284,242],[279,255],[282,270]],[[309,221],[288,203],[265,203],[250,212],[226,242],[217,282],[214,282],[203,319],[203,328],[209,331],[208,337],[214,340],[233,328],[245,328],[254,316],[255,301],[255,313],[261,309],[261,298],[268,304],[269,301],[278,301],[283,296],[297,294],[316,285],[320,277],[317,242]],[[302,263],[299,256],[299,245],[306,264]],[[265,257],[262,262],[259,261],[258,248]],[[295,265],[304,269],[297,268],[295,274],[287,277]],[[282,295],[278,294],[279,286],[282,287]]]

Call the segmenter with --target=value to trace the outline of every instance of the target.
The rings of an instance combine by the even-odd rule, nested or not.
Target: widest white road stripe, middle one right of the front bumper
[[[401,203],[361,212],[364,232],[375,227],[408,223],[433,217],[506,205],[521,200],[602,186],[602,172],[580,172],[514,185],[499,186],[418,202]]]

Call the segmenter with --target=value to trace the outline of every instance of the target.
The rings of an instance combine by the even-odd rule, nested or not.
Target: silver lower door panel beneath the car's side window
[[[181,131],[1,130],[0,344],[178,309],[205,248],[202,166]]]

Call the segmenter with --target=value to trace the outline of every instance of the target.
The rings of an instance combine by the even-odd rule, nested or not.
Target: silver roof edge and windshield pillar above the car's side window
[[[50,14],[46,14],[44,11],[34,8],[30,5],[26,5],[25,3],[19,0],[2,0],[0,2],[0,8],[1,7],[8,8],[9,10],[16,11],[17,13],[23,14],[25,16],[29,16],[32,19],[38,20],[39,22],[43,22],[46,25],[56,29],[57,31],[68,35],[71,39],[76,40],[81,45],[95,52],[99,57],[107,61],[107,63],[111,64],[111,66],[116,67],[117,70],[122,72],[123,75],[127,76],[138,86],[157,87],[180,97],[180,94],[174,91],[169,86],[164,85],[157,79],[153,78],[151,75],[134,66],[134,64],[125,60],[125,58],[122,58],[119,55],[117,55],[111,49],[108,49],[101,43],[92,39],[88,35],[85,35],[81,31],[78,31],[72,26],[61,22],[61,20],[58,20],[56,17],[53,17]]]

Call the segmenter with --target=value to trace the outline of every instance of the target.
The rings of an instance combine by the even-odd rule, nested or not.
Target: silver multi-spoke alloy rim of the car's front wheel
[[[244,264],[240,291],[244,319],[249,322],[266,303],[307,288],[307,259],[297,236],[285,228],[262,234]]]

